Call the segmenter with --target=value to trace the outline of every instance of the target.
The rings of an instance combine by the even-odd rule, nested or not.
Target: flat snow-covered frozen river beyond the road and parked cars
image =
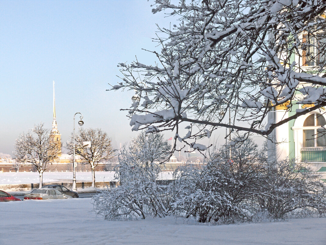
[[[171,178],[170,172],[162,172],[162,179]],[[76,172],[77,182],[92,181],[91,172]],[[95,172],[96,182],[112,181],[114,179],[114,172]],[[48,182],[65,182],[65,180],[72,181],[72,172],[44,172],[43,183]],[[39,175],[37,172],[5,172],[0,173],[1,184],[30,184],[39,183]]]

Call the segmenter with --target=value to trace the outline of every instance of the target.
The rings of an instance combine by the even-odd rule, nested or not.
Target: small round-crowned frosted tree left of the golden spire
[[[44,123],[35,125],[26,134],[22,133],[15,142],[17,161],[35,166],[40,177],[39,188],[43,184],[43,172],[58,153],[57,144],[52,140],[49,129],[44,128]]]

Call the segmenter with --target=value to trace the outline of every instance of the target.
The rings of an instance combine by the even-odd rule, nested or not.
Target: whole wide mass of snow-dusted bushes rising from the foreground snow
[[[250,138],[232,142],[211,150],[200,168],[180,166],[165,186],[156,182],[159,164],[144,164],[139,151],[147,148],[131,144],[119,155],[121,185],[94,197],[94,210],[108,220],[175,215],[214,224],[326,214],[325,185],[305,164],[268,162]]]

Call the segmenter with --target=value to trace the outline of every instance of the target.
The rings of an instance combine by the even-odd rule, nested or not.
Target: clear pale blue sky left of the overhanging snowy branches
[[[154,1],[153,1],[154,2]],[[131,132],[126,112],[133,92],[105,91],[119,81],[117,63],[154,57],[156,23],[147,1],[0,1],[0,152],[34,124],[52,124],[52,81],[62,142],[81,112],[84,127],[99,127],[114,147]]]

